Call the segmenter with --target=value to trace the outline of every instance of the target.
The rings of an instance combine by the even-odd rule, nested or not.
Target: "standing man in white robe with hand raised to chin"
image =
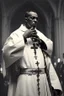
[[[50,59],[53,42],[36,29],[38,21],[36,12],[27,12],[25,21],[25,24],[22,24],[7,38],[2,49],[5,66],[9,71],[10,78],[8,96],[51,96],[45,72],[46,66],[52,88],[62,91]],[[32,38],[34,37],[36,43],[41,45],[37,44],[36,53],[34,52],[35,48],[33,48]],[[36,64],[37,61],[39,65]],[[41,71],[39,74],[37,69]],[[37,80],[38,78],[39,80]]]

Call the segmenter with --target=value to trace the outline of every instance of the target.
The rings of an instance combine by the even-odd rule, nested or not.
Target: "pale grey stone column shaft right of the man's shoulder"
[[[55,39],[55,55],[57,58],[62,59],[62,43],[61,43],[61,20],[60,18],[55,18],[54,23],[54,39]]]

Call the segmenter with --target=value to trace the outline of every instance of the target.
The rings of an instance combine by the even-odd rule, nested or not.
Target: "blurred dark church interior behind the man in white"
[[[53,41],[52,62],[64,91],[64,0],[0,0],[0,96],[7,96],[8,89],[1,49],[27,10],[38,13],[37,28]]]

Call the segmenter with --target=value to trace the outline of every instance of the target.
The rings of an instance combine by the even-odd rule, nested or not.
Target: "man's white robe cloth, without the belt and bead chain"
[[[28,38],[26,43],[24,42],[23,34],[26,30],[27,28],[21,25],[20,28],[14,31],[6,40],[2,49],[6,68],[10,68],[10,66],[18,60],[20,62],[17,62],[17,64],[19,64],[21,68],[37,68],[34,49],[31,49],[33,46],[31,38]],[[36,29],[36,31],[39,38],[45,42],[47,46],[47,54],[51,55],[53,42],[39,30]],[[45,68],[44,57],[40,47],[36,49],[36,52],[39,68]],[[54,89],[62,90],[49,56],[46,56],[46,64],[49,70],[51,86]],[[10,80],[8,96],[38,96],[37,76],[20,74],[17,83],[12,83]],[[40,96],[51,96],[46,73],[40,74]]]

